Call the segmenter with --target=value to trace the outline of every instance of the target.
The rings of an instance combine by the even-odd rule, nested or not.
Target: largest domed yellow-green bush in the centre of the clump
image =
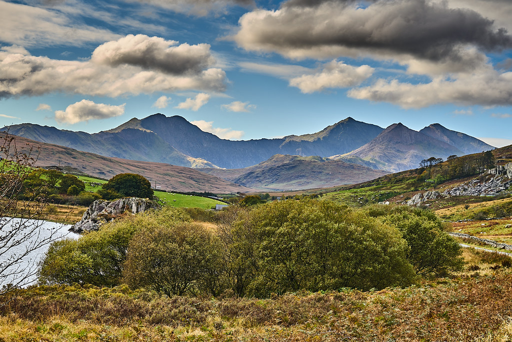
[[[346,206],[285,200],[238,216],[225,240],[231,240],[227,250],[246,254],[231,263],[245,266],[243,275],[253,276],[249,294],[342,287],[369,290],[410,285],[415,276],[400,233]]]

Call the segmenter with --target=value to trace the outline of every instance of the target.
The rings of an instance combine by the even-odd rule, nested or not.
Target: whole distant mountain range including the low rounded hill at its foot
[[[353,184],[382,171],[417,168],[429,157],[445,159],[493,149],[439,124],[420,131],[401,123],[383,129],[352,117],[312,134],[252,140],[221,139],[181,116],[162,114],[133,118],[93,134],[34,124],[1,131],[106,157],[196,168],[269,191]]]

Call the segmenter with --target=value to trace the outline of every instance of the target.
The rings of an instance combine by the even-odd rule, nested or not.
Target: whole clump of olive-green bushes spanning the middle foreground
[[[52,245],[47,284],[125,283],[166,295],[266,297],[297,290],[408,286],[460,268],[460,248],[437,217],[409,207],[350,209],[328,201],[231,206],[217,230],[185,211],[126,217]]]

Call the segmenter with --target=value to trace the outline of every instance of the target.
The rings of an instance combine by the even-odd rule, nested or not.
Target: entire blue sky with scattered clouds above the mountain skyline
[[[512,144],[509,0],[0,0],[0,126],[181,115],[223,138],[348,116]]]

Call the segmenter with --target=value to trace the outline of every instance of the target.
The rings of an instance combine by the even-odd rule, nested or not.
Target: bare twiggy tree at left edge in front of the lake
[[[15,137],[2,133],[0,156],[0,306],[12,290],[27,286],[37,272],[34,253],[58,237],[59,227],[43,229],[39,220],[46,203],[37,191],[18,200],[37,162],[32,146],[16,146]],[[16,217],[16,218],[13,218]]]

